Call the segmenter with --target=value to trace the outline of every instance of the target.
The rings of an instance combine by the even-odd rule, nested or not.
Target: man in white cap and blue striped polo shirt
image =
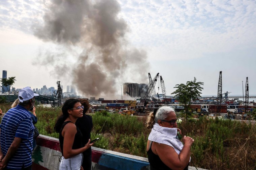
[[[0,125],[0,170],[32,168],[34,125],[29,110],[35,105],[34,93],[29,87],[19,92],[20,103],[4,115]]]

